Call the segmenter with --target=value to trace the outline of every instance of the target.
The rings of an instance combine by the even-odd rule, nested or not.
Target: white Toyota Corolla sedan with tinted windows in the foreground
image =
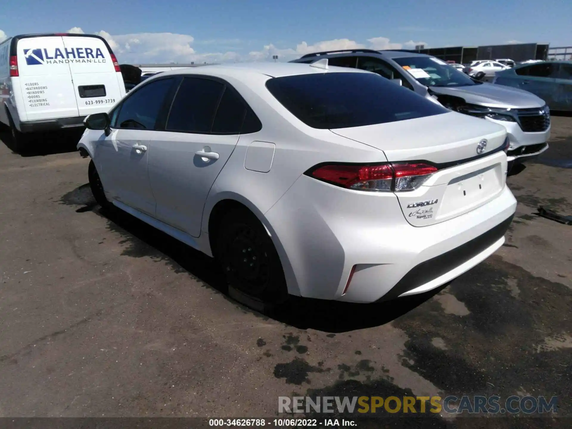
[[[436,288],[503,244],[517,204],[505,128],[325,60],[161,73],[85,125],[102,206],[267,303]]]

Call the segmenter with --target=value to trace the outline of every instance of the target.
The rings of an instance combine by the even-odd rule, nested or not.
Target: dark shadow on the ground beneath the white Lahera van
[[[28,137],[26,149],[16,152],[13,145],[12,135],[9,129],[0,130],[0,140],[12,153],[21,157],[46,156],[58,153],[75,152],[76,145],[80,141],[83,129],[61,130],[34,134]]]

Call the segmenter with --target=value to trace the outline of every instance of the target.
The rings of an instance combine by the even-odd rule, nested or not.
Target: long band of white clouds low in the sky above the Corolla
[[[73,27],[71,32],[83,33],[80,27]],[[386,37],[367,39],[367,43],[360,43],[350,39],[333,39],[313,44],[300,42],[295,47],[280,48],[272,43],[263,46],[261,50],[251,51],[248,54],[234,51],[236,48],[225,45],[240,45],[240,39],[211,39],[195,41],[188,34],[176,33],[136,33],[112,35],[105,30],[96,31],[108,41],[121,63],[204,63],[204,62],[241,62],[241,61],[272,61],[273,55],[278,55],[279,61],[289,61],[301,55],[319,51],[345,50],[345,49],[413,49],[415,45],[427,45],[424,42],[408,41],[404,43],[391,42]],[[203,48],[218,45],[229,51],[199,53],[194,47]],[[244,46],[244,45],[243,45]]]

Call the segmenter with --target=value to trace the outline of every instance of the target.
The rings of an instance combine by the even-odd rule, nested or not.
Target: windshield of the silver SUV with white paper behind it
[[[434,57],[393,58],[403,69],[425,86],[472,86],[480,85],[455,67]]]

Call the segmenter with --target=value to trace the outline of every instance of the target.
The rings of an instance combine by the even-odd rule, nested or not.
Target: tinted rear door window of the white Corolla
[[[209,133],[223,90],[221,82],[185,77],[173,100],[165,130]]]

